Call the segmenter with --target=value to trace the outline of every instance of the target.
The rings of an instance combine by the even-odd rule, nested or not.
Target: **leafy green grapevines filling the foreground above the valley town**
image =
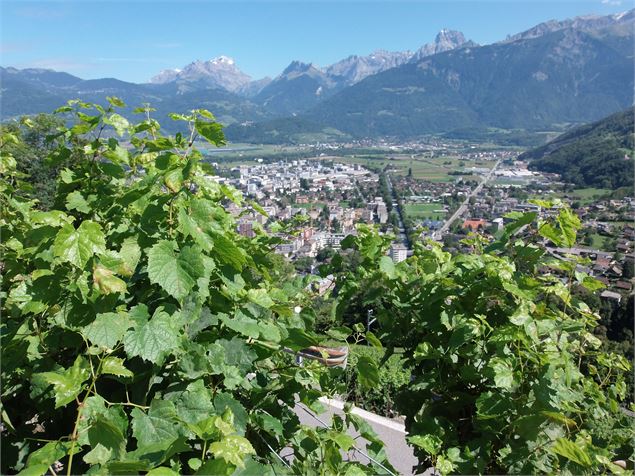
[[[237,233],[227,203],[265,212],[194,146],[225,143],[214,116],[173,114],[183,132],[167,136],[151,108],[131,123],[109,103],[71,101],[41,137],[28,118],[2,128],[2,474],[385,474],[349,407],[329,428],[294,413],[367,391],[405,416],[419,471],[632,468],[631,365],[572,292],[603,285],[543,246],[575,244],[569,209],[535,201],[551,218],[513,213],[496,241],[468,237],[470,254],[416,243],[399,264],[390,237],[360,226],[320,269],[333,325],[317,333],[311,277],[282,269],[278,238]],[[27,142],[42,154],[28,166]],[[334,337],[377,352],[346,370],[289,352]],[[396,349],[406,377],[382,392]],[[347,458],[349,428],[375,462]]]

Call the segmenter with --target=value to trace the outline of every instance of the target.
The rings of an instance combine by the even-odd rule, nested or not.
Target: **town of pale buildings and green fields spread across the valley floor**
[[[360,146],[351,144],[349,147]],[[635,243],[635,200],[586,195],[572,189],[557,174],[527,169],[510,150],[474,150],[447,157],[447,144],[364,144],[384,147],[384,156],[327,155],[318,147],[315,157],[254,158],[215,162],[218,180],[234,186],[265,212],[242,209],[233,203],[240,234],[253,237],[267,230],[282,242],[276,252],[313,272],[320,262],[356,233],[356,225],[374,224],[391,234],[390,256],[400,262],[412,254],[415,241],[442,242],[455,252],[470,251],[463,239],[477,233],[486,239],[501,232],[511,212],[554,213],[532,199],[556,199],[572,207],[583,223],[580,243],[553,249],[560,257],[580,256],[579,267],[602,281],[602,299],[619,304],[632,289]],[[592,191],[592,190],[591,190]],[[582,193],[582,195],[581,195]],[[293,232],[279,225],[293,225]]]

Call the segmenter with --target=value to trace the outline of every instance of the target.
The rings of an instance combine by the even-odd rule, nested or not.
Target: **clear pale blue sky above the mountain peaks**
[[[0,0],[0,65],[146,82],[225,55],[258,79],[377,49],[416,50],[442,28],[480,44],[550,19],[608,15],[633,0]]]

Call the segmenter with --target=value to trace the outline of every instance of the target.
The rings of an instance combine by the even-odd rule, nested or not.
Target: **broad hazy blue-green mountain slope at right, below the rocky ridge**
[[[377,74],[308,113],[357,136],[586,122],[632,100],[632,31],[566,29],[465,48]]]

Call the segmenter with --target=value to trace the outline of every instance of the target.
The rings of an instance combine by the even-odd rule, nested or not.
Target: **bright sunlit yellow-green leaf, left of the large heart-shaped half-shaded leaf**
[[[64,225],[53,243],[53,253],[62,261],[83,268],[96,253],[106,251],[106,239],[101,226],[90,220],[83,221],[79,228]]]

